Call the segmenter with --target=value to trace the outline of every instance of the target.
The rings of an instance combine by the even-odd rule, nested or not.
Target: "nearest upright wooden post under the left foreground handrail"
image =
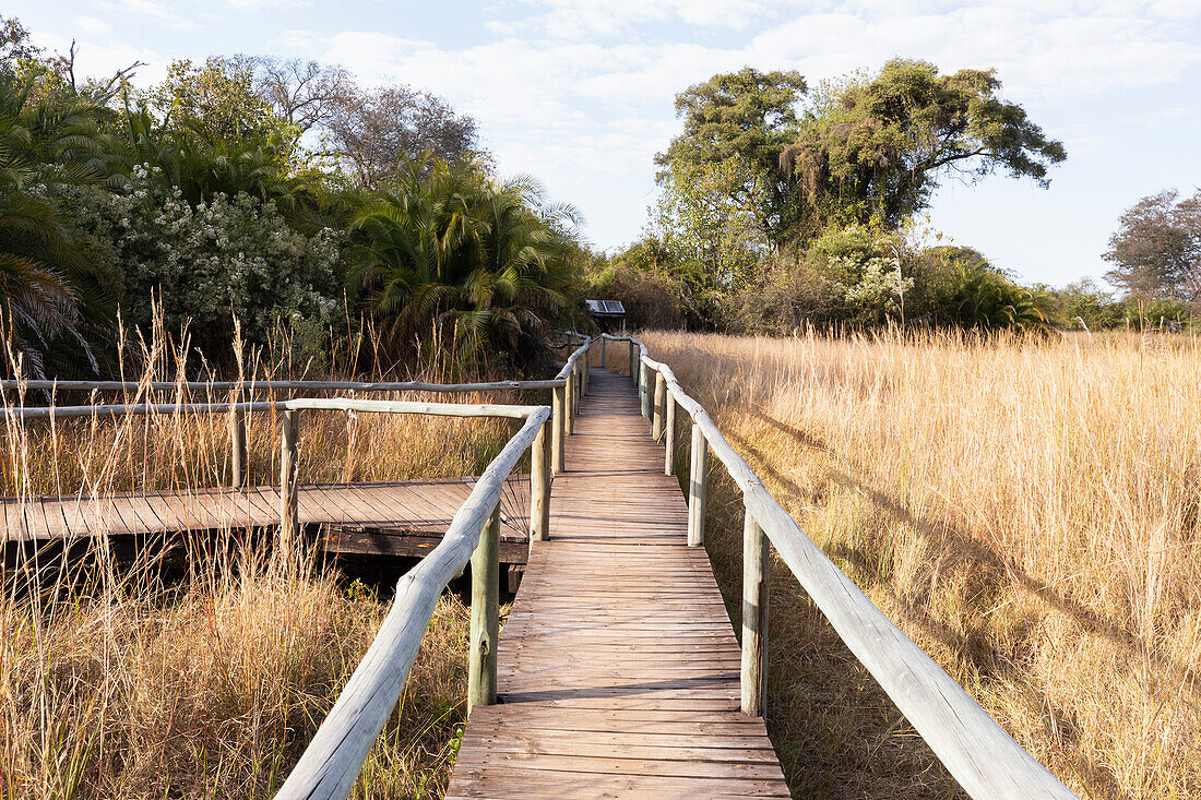
[[[471,656],[467,716],[477,705],[496,703],[496,639],[501,629],[501,505],[479,532],[471,554]]]

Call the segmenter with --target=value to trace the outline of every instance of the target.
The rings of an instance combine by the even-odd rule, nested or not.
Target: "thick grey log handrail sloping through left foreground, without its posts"
[[[380,632],[276,798],[331,800],[349,794],[368,753],[396,708],[442,590],[467,566],[482,529],[501,501],[504,479],[549,414],[549,408],[542,406],[526,419],[476,482],[442,542],[396,581],[396,596]],[[491,664],[495,669],[495,659]],[[484,695],[486,686],[477,699]]]

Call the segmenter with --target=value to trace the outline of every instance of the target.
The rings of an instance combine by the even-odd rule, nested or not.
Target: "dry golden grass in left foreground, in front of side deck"
[[[0,602],[5,798],[269,798],[387,608],[249,569],[178,595]],[[437,796],[464,718],[466,619],[440,605],[357,798]]]

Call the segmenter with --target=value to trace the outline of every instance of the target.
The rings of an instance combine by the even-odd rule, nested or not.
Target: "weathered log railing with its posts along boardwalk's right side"
[[[770,541],[850,651],[969,795],[1015,800],[1076,796],[884,616],[801,531],[746,460],[725,441],[705,408],[683,390],[670,366],[653,360],[637,339],[605,335],[602,341],[605,340],[629,345],[631,378],[638,386],[643,416],[651,418],[652,436],[665,440],[668,474],[674,471],[676,406],[692,418],[688,543],[700,545],[705,541],[705,476],[710,449],[742,490],[746,507],[741,670],[745,712],[760,715],[763,711]]]

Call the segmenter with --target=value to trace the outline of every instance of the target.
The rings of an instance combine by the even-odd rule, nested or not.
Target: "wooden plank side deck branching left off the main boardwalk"
[[[474,478],[319,484],[298,490],[299,521],[327,553],[420,556],[442,541]],[[502,501],[501,561],[525,563],[530,480],[509,478]],[[0,544],[54,542],[108,535],[277,525],[277,486],[190,489],[89,497],[0,500]]]

